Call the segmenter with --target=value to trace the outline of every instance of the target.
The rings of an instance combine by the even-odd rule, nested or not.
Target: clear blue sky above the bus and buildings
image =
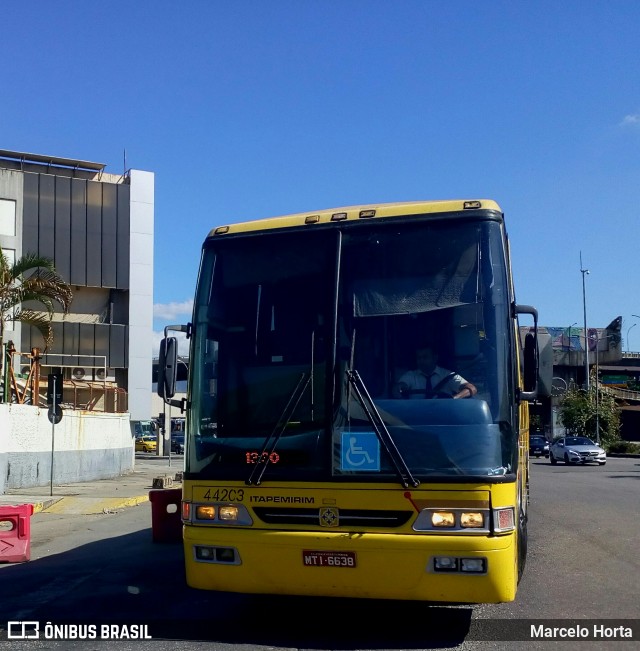
[[[640,3],[6,2],[0,149],[155,174],[154,328],[217,225],[492,198],[549,326],[640,351]],[[126,161],[125,161],[126,152]],[[155,347],[155,343],[154,343]]]

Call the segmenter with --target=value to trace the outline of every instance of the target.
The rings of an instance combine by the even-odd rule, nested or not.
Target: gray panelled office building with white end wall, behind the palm
[[[100,163],[0,150],[5,257],[50,258],[73,291],[40,363],[43,375],[63,374],[65,400],[76,408],[151,417],[153,238],[153,173],[109,174]],[[24,377],[44,341],[34,328],[6,325],[4,343],[14,343],[12,365]],[[87,402],[100,387],[101,402]]]

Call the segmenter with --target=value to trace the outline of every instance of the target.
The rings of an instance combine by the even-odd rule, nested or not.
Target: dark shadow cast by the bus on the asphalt
[[[143,529],[0,565],[0,628],[12,620],[136,624],[153,639],[338,651],[456,647],[469,632],[467,606],[195,590],[183,553]]]

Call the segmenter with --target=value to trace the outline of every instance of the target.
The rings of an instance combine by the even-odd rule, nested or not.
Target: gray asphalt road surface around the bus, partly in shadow
[[[148,503],[92,516],[35,514],[34,527],[42,532],[46,522],[47,531],[32,544],[37,559],[0,565],[0,627],[5,618],[126,621],[149,624],[156,639],[13,640],[2,648],[546,649],[555,642],[502,639],[514,621],[541,618],[565,624],[635,619],[637,635],[639,490],[640,459],[610,459],[603,467],[532,460],[529,557],[517,599],[473,607],[192,590],[184,582],[182,546],[152,542]],[[496,631],[494,638],[478,640],[477,626]],[[634,643],[574,639],[560,645]]]

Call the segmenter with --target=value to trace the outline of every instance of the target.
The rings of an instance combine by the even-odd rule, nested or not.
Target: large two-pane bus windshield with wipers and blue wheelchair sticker
[[[209,238],[194,308],[190,478],[504,481],[516,369],[500,221]],[[404,396],[428,339],[467,399]]]

